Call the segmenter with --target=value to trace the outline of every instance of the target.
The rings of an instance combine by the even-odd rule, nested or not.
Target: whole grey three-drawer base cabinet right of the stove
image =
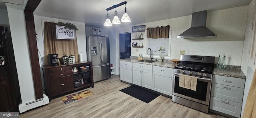
[[[240,118],[245,79],[213,75],[210,109]]]

